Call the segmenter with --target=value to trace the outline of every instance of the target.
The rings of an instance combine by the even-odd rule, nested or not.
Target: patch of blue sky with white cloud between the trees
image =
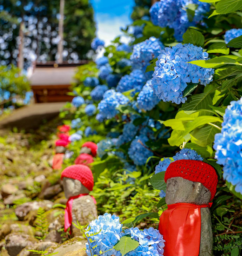
[[[120,27],[131,23],[133,0],[90,0],[95,12],[97,35],[108,45],[122,34]],[[125,38],[123,38],[125,41]]]

